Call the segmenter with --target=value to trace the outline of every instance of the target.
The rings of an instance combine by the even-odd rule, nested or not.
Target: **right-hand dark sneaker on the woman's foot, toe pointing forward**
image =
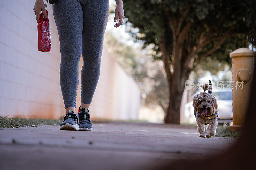
[[[80,106],[81,107],[81,106]],[[92,122],[90,120],[89,109],[78,109],[78,117],[79,117],[79,130],[83,131],[92,131]]]

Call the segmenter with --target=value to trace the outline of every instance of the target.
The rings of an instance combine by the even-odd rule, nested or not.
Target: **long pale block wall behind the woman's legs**
[[[57,28],[52,5],[48,4],[52,48],[50,53],[39,52],[34,2],[0,0],[0,115],[59,118],[65,110],[59,80]],[[79,84],[77,101],[80,94]],[[127,115],[126,108],[132,101],[136,101],[130,108],[133,115]],[[134,119],[139,103],[138,86],[104,50],[99,85],[90,112],[100,118]]]

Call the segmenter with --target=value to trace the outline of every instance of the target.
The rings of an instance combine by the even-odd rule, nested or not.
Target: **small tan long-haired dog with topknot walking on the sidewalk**
[[[210,83],[211,84],[211,83]],[[217,100],[211,94],[212,86],[205,83],[201,86],[204,92],[196,94],[193,98],[194,115],[196,117],[197,130],[199,137],[205,137],[205,125],[208,125],[206,137],[216,135],[216,128],[218,125]],[[208,93],[205,91],[208,90]]]

